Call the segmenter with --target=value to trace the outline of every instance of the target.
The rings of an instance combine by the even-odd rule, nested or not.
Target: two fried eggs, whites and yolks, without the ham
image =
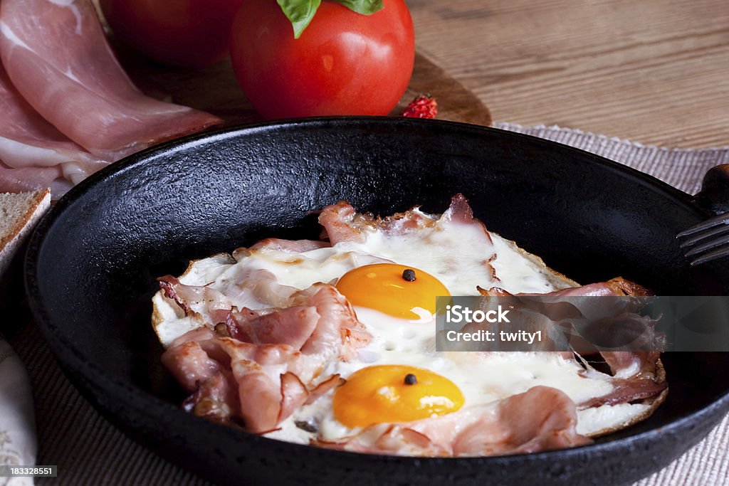
[[[418,211],[418,210],[415,210]],[[278,248],[241,248],[190,264],[179,280],[222,291],[238,308],[265,309],[271,302],[238,283],[257,270],[276,282],[308,289],[331,283],[354,306],[373,335],[351,361],[331,361],[322,375],[346,383],[297,409],[271,438],[308,444],[336,441],[377,423],[409,422],[488,404],[537,385],[564,391],[575,403],[612,391],[601,374],[587,376],[574,359],[558,353],[467,353],[435,350],[435,299],[478,295],[499,286],[515,294],[576,286],[537,256],[483,228],[419,213],[429,224],[391,234],[376,228],[358,241],[292,253]],[[154,297],[155,331],[165,346],[200,326],[161,293]],[[577,431],[595,436],[639,420],[649,404],[593,407],[578,412]]]

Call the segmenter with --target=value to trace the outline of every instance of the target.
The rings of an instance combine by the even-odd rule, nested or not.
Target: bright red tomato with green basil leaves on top
[[[245,0],[230,58],[254,108],[268,119],[388,114],[413,73],[413,20],[403,0],[361,15],[322,1],[299,39],[274,0]]]

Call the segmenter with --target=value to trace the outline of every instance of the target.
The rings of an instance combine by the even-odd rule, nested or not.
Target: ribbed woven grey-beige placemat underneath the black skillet
[[[496,123],[496,128],[528,133],[576,146],[650,173],[694,193],[713,165],[729,163],[729,147],[664,149],[558,127],[524,128]],[[58,465],[58,477],[36,485],[125,486],[209,483],[157,457],[107,422],[63,376],[34,324],[12,337],[28,368],[34,390],[39,464]],[[636,483],[640,486],[728,485],[729,418],[671,465]]]

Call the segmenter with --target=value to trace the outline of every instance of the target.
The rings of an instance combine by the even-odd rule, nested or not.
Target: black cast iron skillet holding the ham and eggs
[[[674,238],[708,211],[649,176],[500,130],[345,118],[188,138],[91,177],[34,234],[31,307],[87,399],[151,450],[222,484],[624,484],[666,466],[729,410],[729,353],[664,356],[671,392],[649,420],[587,447],[532,455],[358,455],[264,439],[180,409],[149,325],[155,277],[264,237],[316,238],[308,211],[340,199],[381,214],[415,204],[441,212],[456,192],[489,229],[577,281],[623,275],[664,295],[729,289],[726,262],[691,268]]]

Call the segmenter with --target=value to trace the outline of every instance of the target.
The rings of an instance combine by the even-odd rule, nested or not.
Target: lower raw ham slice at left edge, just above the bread
[[[41,117],[0,66],[0,192],[52,188],[58,199],[108,162],[94,157]]]

